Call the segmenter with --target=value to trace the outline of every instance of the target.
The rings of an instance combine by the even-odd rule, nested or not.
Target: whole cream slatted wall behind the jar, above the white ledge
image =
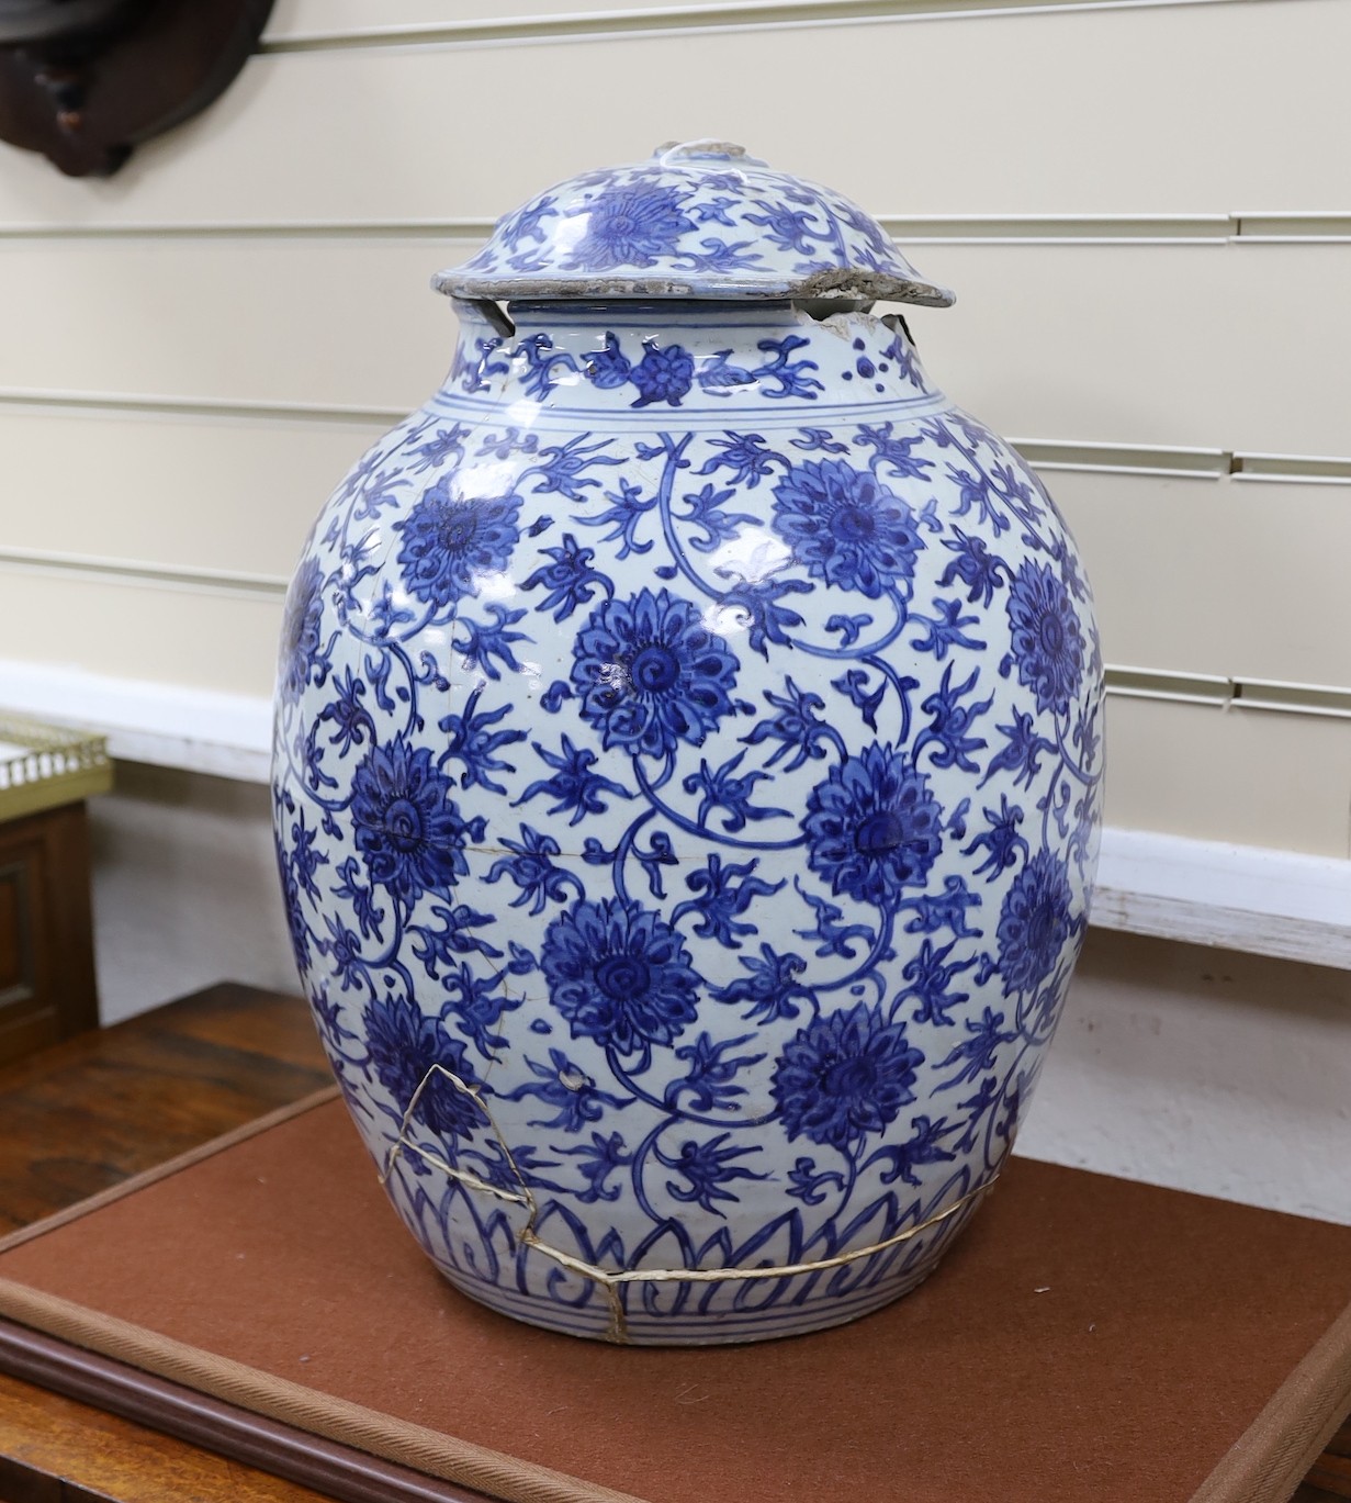
[[[1351,854],[1345,0],[502,9],[278,0],[111,182],[0,153],[5,655],[266,696],[316,508],[443,373],[428,275],[555,177],[726,135],[957,289],[926,362],[1100,597],[1109,822]]]

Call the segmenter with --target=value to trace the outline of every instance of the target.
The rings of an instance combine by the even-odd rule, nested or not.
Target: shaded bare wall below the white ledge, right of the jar
[[[1351,972],[1091,930],[1017,1148],[1351,1223]]]

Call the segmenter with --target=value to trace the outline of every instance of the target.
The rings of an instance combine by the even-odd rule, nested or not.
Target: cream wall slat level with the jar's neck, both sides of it
[[[436,240],[0,242],[0,388],[407,410],[449,364]],[[933,377],[1041,440],[1351,457],[1337,246],[932,246]],[[1273,287],[1300,286],[1300,299]],[[98,328],[99,337],[90,338]]]

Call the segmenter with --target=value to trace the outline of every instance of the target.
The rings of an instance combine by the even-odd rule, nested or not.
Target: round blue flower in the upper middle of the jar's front
[[[609,600],[577,636],[573,687],[604,747],[664,756],[732,708],[736,658],[697,606],[663,589]]]

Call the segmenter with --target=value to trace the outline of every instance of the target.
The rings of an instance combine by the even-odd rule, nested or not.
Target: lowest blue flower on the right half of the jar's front
[[[787,1042],[774,1067],[771,1091],[789,1141],[810,1138],[842,1151],[881,1132],[915,1099],[915,1066],[903,1022],[887,1022],[879,1007],[816,1018]]]

